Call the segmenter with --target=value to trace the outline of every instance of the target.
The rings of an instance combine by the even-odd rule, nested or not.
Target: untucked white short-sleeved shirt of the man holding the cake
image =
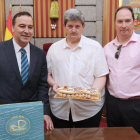
[[[108,67],[102,46],[94,40],[81,36],[78,46],[71,49],[66,38],[54,43],[47,53],[48,74],[61,86],[91,88],[95,77],[108,74]],[[51,91],[50,107],[60,119],[69,120],[71,108],[73,121],[80,121],[97,114],[104,104],[103,89],[101,101],[57,99]]]

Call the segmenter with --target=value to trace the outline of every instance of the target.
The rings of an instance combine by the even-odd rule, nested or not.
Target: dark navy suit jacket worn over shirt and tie
[[[13,41],[0,42],[0,104],[43,101],[50,112],[45,52],[30,44],[29,77],[23,86]]]

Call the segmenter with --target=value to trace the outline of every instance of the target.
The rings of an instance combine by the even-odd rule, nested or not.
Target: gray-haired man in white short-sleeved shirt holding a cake
[[[64,15],[66,38],[54,43],[47,54],[52,121],[55,128],[98,127],[104,104],[108,67],[102,46],[81,35],[85,27],[82,13],[69,9]],[[101,101],[54,98],[57,88],[77,86],[98,88]]]

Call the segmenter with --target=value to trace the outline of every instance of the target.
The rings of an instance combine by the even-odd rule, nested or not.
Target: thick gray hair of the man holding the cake
[[[85,23],[85,18],[80,10],[69,9],[64,14],[64,24],[66,25],[68,20],[80,20],[82,25]]]

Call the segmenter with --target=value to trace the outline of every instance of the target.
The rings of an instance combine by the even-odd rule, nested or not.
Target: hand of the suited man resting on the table
[[[44,115],[44,120],[46,122],[46,129],[53,130],[54,127],[53,127],[53,122],[52,122],[51,117],[49,115]]]

